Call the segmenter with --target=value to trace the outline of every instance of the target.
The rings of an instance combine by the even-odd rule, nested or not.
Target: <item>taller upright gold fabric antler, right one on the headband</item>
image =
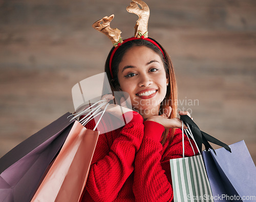
[[[150,8],[148,8],[146,3],[141,0],[137,0],[137,1],[132,0],[132,1],[133,2],[130,3],[130,6],[128,6],[126,10],[130,13],[134,13],[139,16],[139,19],[137,20],[137,23],[134,27],[135,29],[134,37],[141,38],[141,36],[143,36],[146,38],[147,22],[148,22],[148,18],[150,18]],[[141,9],[137,4],[141,6]]]

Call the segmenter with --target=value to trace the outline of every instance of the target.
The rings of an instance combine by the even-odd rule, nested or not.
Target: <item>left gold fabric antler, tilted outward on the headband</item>
[[[121,38],[121,31],[116,29],[112,29],[110,27],[110,22],[113,20],[114,14],[111,16],[105,16],[102,19],[96,21],[93,23],[93,28],[98,30],[99,32],[102,32],[106,36],[110,38],[112,41],[113,45],[116,47],[118,46],[118,43],[122,43],[122,38]],[[101,23],[102,22],[102,23]]]

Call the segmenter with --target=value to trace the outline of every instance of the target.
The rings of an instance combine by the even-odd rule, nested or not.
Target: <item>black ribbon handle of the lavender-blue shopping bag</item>
[[[180,119],[187,126],[189,125],[189,128],[195,138],[196,144],[200,151],[202,150],[202,144],[204,144],[206,150],[208,150],[209,148],[214,150],[214,148],[212,148],[212,146],[209,143],[209,142],[211,142],[211,143],[214,143],[214,144],[224,147],[226,150],[228,150],[231,153],[231,149],[227,144],[225,144],[224,142],[221,142],[220,140],[216,139],[215,137],[212,137],[212,136],[208,135],[207,133],[201,131],[199,129],[198,125],[189,116],[180,115]],[[215,150],[214,150],[214,153],[216,155]]]

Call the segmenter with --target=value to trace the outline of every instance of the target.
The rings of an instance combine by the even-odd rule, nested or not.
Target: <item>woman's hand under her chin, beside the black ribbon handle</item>
[[[152,116],[150,118],[147,119],[151,120],[151,121],[155,121],[157,123],[160,123],[161,125],[164,126],[165,129],[170,129],[170,128],[182,128],[181,125],[181,120],[179,118],[168,118],[170,116],[170,113],[172,112],[172,108],[171,107],[167,107],[164,110],[164,113],[160,116]],[[188,112],[181,112],[181,115],[185,115],[182,113],[186,113],[187,115],[190,116],[190,114]],[[187,129],[186,125],[183,125],[184,129]]]

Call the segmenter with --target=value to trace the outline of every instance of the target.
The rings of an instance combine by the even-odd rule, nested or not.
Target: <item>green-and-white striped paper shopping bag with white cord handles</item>
[[[187,138],[190,133],[185,131]],[[193,138],[193,134],[189,134]],[[188,138],[189,140],[189,138]],[[189,140],[190,141],[190,140]],[[182,121],[183,158],[170,159],[174,201],[212,201],[212,194],[207,179],[201,154],[193,157],[184,157],[184,130]],[[192,144],[190,143],[193,148]],[[194,150],[194,148],[193,148]],[[198,150],[200,153],[200,151]],[[195,151],[194,151],[195,154]]]

